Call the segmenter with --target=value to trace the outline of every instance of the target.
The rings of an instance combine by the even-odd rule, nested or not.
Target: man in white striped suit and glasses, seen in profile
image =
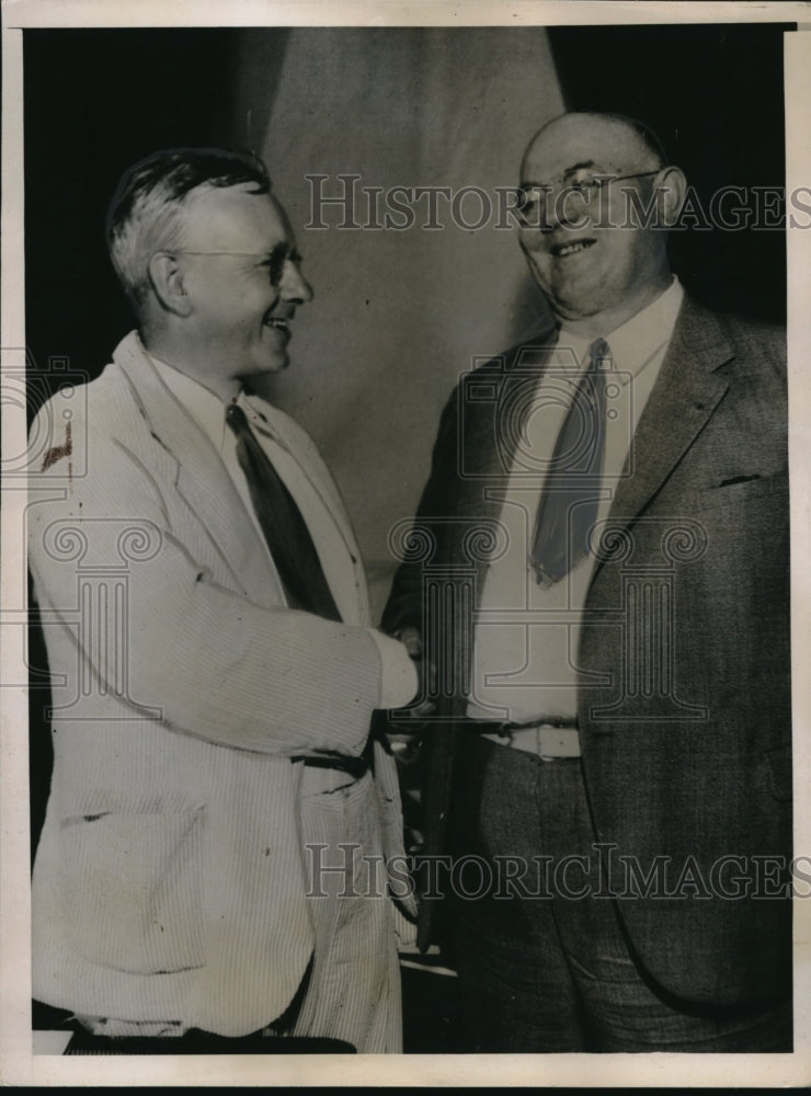
[[[367,739],[416,682],[312,442],[250,393],[311,298],[289,226],[259,161],[180,149],[126,173],[107,236],[138,331],[32,435],[34,996],[96,1035],[397,1051],[406,922],[370,865],[399,797]]]

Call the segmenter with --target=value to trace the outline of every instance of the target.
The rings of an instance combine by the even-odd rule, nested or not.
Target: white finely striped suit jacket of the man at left
[[[37,1000],[238,1036],[275,1019],[301,980],[304,763],[289,758],[358,755],[373,709],[408,703],[415,683],[404,649],[373,638],[332,478],[281,422],[276,442],[353,562],[342,624],[286,607],[218,454],[134,333],[32,427],[55,753],[33,881]],[[397,777],[379,744],[375,777],[396,853]]]

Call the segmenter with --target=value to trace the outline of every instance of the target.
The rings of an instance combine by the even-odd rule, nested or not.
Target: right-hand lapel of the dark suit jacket
[[[633,522],[682,460],[729,388],[729,377],[718,369],[732,354],[712,313],[685,297],[633,435],[629,475],[619,481],[609,523]]]

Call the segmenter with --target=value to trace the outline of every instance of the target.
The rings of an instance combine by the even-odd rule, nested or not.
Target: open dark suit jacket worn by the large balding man
[[[545,334],[454,392],[385,613],[390,631],[420,628],[438,664],[422,758],[426,853],[445,848],[472,610],[499,535],[487,488],[505,481],[515,392],[542,367],[532,347]],[[780,870],[791,856],[791,732],[779,331],[685,298],[626,472],[578,653],[596,837],[654,870],[647,897],[641,886],[616,904],[664,991],[710,1005],[777,995],[791,971]],[[613,877],[619,894],[624,871]],[[775,893],[784,897],[766,897]],[[423,945],[434,904],[423,903]]]

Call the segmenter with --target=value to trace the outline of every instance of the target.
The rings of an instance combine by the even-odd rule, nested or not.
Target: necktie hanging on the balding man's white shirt
[[[608,368],[608,344],[595,339],[555,444],[535,522],[530,561],[542,585],[564,578],[589,552],[599,504]]]

